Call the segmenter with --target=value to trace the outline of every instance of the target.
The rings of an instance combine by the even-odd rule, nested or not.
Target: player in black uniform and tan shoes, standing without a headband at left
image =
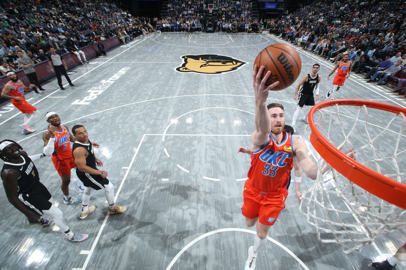
[[[72,133],[76,138],[72,145],[76,174],[85,187],[82,197],[82,211],[79,217],[86,218],[96,209],[94,205],[89,207],[90,195],[93,189],[105,190],[106,200],[109,203],[109,214],[123,213],[127,210],[127,207],[114,203],[114,185],[107,179],[106,171],[97,169],[97,166],[103,166],[103,162],[94,156],[93,146],[89,141],[85,127],[76,125],[72,128]]]

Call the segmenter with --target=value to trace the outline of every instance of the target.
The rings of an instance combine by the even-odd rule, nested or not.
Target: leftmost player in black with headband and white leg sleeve
[[[54,136],[53,130],[49,132]],[[52,143],[46,147],[53,147]],[[0,158],[5,161],[1,177],[9,202],[23,213],[29,224],[48,224],[43,214],[50,215],[70,242],[82,242],[87,234],[74,234],[63,218],[62,212],[53,204],[48,189],[40,182],[40,176],[33,161],[45,157],[44,154],[28,156],[22,147],[12,140],[0,142]]]

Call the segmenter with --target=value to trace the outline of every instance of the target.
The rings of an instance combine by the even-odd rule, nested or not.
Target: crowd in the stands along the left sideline
[[[71,51],[72,40],[80,48],[117,36],[125,44],[153,31],[148,18],[133,17],[113,0],[14,0],[0,3],[0,75],[15,70],[17,52],[35,63],[46,61],[49,49]],[[102,46],[101,46],[102,47]],[[100,49],[100,47],[99,47]],[[103,50],[103,48],[101,48]],[[100,51],[100,54],[103,52]]]

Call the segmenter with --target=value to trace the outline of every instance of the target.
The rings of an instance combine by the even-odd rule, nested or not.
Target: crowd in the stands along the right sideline
[[[367,83],[406,94],[406,3],[377,0],[318,0],[268,22],[270,33],[337,63],[344,54],[352,72]]]

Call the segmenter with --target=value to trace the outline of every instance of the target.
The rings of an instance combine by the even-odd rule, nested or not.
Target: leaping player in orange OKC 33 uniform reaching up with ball
[[[264,67],[254,66],[252,74],[255,92],[255,131],[251,135],[251,167],[244,185],[243,215],[248,227],[256,224],[254,246],[248,250],[245,270],[255,269],[259,249],[266,243],[270,226],[274,225],[285,207],[288,196],[286,186],[297,159],[303,172],[311,179],[317,177],[317,164],[308,155],[303,139],[291,137],[283,131],[285,112],[282,104],[266,105],[269,90],[279,82],[265,86],[270,76],[267,71],[261,80]]]

